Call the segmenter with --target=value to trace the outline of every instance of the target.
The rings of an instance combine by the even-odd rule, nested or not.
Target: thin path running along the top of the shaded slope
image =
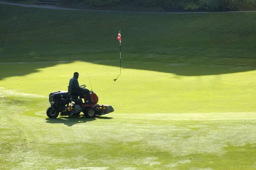
[[[50,5],[36,5],[36,4],[21,4],[1,1],[0,4],[12,5],[12,6],[22,6],[29,8],[45,8],[54,10],[70,10],[70,11],[100,11],[100,12],[128,12],[128,13],[143,13],[143,14],[208,14],[208,13],[255,13],[256,11],[224,11],[224,12],[140,12],[140,11],[113,11],[113,10],[90,10],[90,9],[77,9],[77,8],[64,8]]]

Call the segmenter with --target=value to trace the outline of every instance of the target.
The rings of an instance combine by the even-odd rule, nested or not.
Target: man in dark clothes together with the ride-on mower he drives
[[[105,115],[113,112],[114,109],[110,105],[97,104],[98,96],[85,87],[79,86],[78,72],[74,72],[74,77],[70,80],[69,91],[56,91],[49,95],[51,106],[46,113],[49,118],[57,118],[59,113],[61,116],[79,116],[81,112],[87,118],[94,118],[95,115]],[[84,100],[84,101],[83,101]]]

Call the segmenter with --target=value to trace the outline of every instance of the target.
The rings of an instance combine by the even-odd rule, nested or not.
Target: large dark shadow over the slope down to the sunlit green
[[[59,64],[53,60],[70,60],[67,63],[85,61],[119,67],[119,44],[113,38],[117,32],[111,31],[117,29],[116,25],[126,28],[122,46],[123,68],[181,76],[226,74],[256,69],[255,39],[252,38],[255,36],[256,26],[252,24],[255,17],[251,14],[71,14],[64,11],[18,8],[0,8],[5,16],[2,18],[4,36],[0,38],[0,62],[49,62],[14,63],[13,66],[0,63],[0,80],[27,75],[40,68]],[[17,19],[24,14],[24,17]],[[63,14],[66,17],[63,18]],[[237,18],[240,22],[236,22]],[[60,27],[63,29],[59,29]],[[94,34],[97,29],[97,34]],[[138,38],[142,32],[146,34],[145,38]],[[117,81],[118,78],[111,79]]]

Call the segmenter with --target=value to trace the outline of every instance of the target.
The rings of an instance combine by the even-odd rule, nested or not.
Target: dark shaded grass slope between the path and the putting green
[[[0,5],[4,25],[0,56],[4,61],[113,59],[118,57],[116,37],[121,30],[127,60],[255,58],[255,16],[70,12]]]

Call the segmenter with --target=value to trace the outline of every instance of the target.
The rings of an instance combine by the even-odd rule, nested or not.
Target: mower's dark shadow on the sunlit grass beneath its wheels
[[[67,126],[73,126],[74,124],[86,123],[96,119],[113,119],[113,118],[100,117],[100,116],[96,116],[95,118],[85,118],[82,115],[80,115],[79,117],[78,116],[69,116],[69,117],[60,116],[59,118],[56,118],[56,119],[46,118],[46,123],[54,123],[54,124],[61,123]]]

